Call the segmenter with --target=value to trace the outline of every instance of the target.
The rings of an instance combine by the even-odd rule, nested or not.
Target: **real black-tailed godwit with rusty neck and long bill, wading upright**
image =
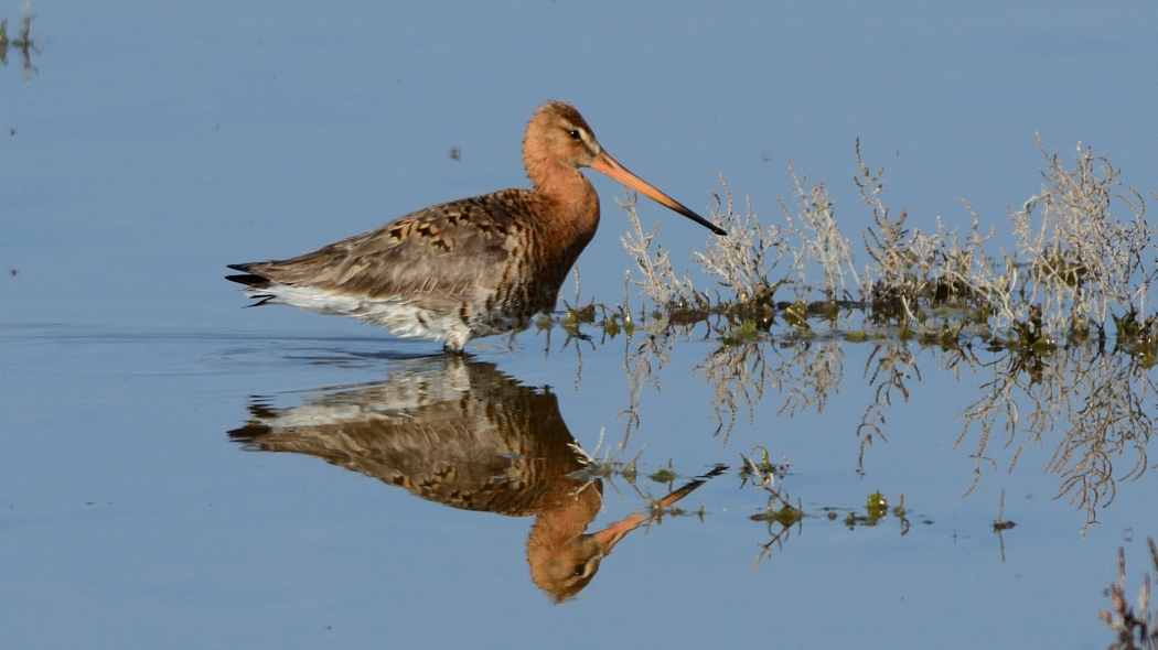
[[[573,106],[548,102],[522,141],[532,190],[431,206],[292,259],[229,265],[257,304],[352,316],[400,337],[442,341],[526,327],[555,308],[559,287],[599,226],[589,167],[717,235],[724,230],[615,162]]]

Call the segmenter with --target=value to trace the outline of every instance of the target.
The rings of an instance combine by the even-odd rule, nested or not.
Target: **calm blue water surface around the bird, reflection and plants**
[[[0,3],[9,34],[20,10]],[[911,226],[937,215],[968,224],[963,198],[1007,234],[1005,206],[1040,186],[1035,133],[1063,156],[1092,146],[1123,182],[1156,189],[1153,7],[32,10],[38,74],[25,82],[12,50],[0,67],[6,647],[1108,644],[1097,610],[1122,544],[1135,593],[1141,542],[1158,534],[1155,474],[1120,483],[1084,537],[1084,514],[1051,500],[1060,479],[1042,473],[1054,438],[1029,445],[1012,473],[1016,449],[991,443],[998,470],[983,466],[962,498],[976,438],[954,449],[952,416],[990,378],[980,365],[954,378],[913,346],[919,381],[908,400],[894,393],[887,442],[862,450],[857,426],[877,399],[864,381],[871,348],[845,345],[822,413],[790,418],[769,387],[724,444],[712,435],[713,390],[695,370],[714,346],[677,342],[639,393],[623,453],[642,449],[644,472],[670,459],[683,479],[717,463],[732,470],[681,502],[702,505],[703,520],[631,532],[578,598],[552,605],[529,579],[530,518],[446,508],[312,456],[230,441],[255,404],[294,408],[431,372],[403,357],[437,346],[291,309],[244,310],[221,275],[228,263],[523,185],[522,130],[548,98],[574,103],[613,155],[694,209],[713,204],[723,173],[757,213],[777,215],[791,158],[833,190],[855,234],[870,220],[848,183],[859,135]],[[593,183],[603,224],[580,260],[582,288],[614,303],[631,264],[613,201],[622,191]],[[703,242],[662,208],[640,213],[664,221],[676,258]],[[581,368],[563,342],[556,330],[550,344],[527,332],[513,349],[500,339],[471,349],[512,391],[550,386],[570,434],[602,457],[601,430],[604,446],[624,436],[624,349],[639,340],[581,346]],[[794,349],[770,345],[768,356]],[[981,362],[988,354],[977,350]],[[809,517],[752,570],[771,538],[749,517],[767,498],[735,471],[755,444],[787,458],[784,486]],[[1003,516],[1018,524],[1004,533],[1004,561],[991,531],[1003,489]],[[895,518],[843,526],[875,490],[891,505],[904,495],[907,534]],[[622,480],[604,495],[591,531],[646,505]]]

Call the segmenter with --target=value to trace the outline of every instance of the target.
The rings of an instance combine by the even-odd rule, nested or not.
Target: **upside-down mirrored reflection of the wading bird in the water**
[[[316,391],[292,408],[255,399],[229,436],[248,450],[317,456],[454,508],[534,515],[527,562],[557,603],[587,586],[611,548],[650,518],[632,515],[586,534],[603,487],[581,472],[587,456],[556,397],[457,356],[409,360],[386,382]]]

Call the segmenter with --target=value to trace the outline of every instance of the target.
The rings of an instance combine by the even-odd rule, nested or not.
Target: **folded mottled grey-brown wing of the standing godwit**
[[[237,268],[335,295],[457,297],[498,286],[527,245],[537,209],[530,191],[504,190],[431,206],[293,259]]]

